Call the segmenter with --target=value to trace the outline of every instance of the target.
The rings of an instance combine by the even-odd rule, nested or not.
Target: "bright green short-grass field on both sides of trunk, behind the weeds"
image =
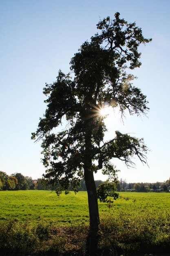
[[[130,213],[133,209],[157,213],[170,209],[170,193],[119,193],[123,198],[114,202],[110,209],[106,203],[99,202],[99,214],[115,211]],[[129,200],[124,200],[124,198]],[[76,195],[62,193],[59,197],[51,191],[0,191],[0,220],[39,220],[53,221],[57,225],[88,223],[87,193],[79,191]]]

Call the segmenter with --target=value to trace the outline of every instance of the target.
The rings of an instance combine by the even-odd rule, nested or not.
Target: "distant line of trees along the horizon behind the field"
[[[103,183],[102,180],[95,180],[96,188],[99,184]],[[56,186],[57,187],[57,186]],[[55,190],[56,187],[53,189]],[[29,176],[24,176],[21,173],[13,173],[7,175],[7,173],[0,171],[0,190],[51,190],[50,186],[44,186],[41,179],[33,180]],[[78,191],[86,191],[86,184],[84,179],[81,180],[80,186],[77,187]],[[117,184],[117,191],[137,191],[137,192],[148,192],[148,191],[169,191],[170,190],[170,178],[165,182],[156,183],[127,183],[126,180],[119,180]],[[70,186],[71,190],[71,186]]]

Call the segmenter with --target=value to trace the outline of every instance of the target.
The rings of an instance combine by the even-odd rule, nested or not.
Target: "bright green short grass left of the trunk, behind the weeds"
[[[60,197],[51,191],[0,191],[0,220],[38,220],[64,223],[88,221],[86,193],[62,193]]]

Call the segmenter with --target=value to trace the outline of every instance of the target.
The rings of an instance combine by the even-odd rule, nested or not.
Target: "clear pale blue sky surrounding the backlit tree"
[[[142,65],[134,85],[147,95],[147,117],[117,113],[106,119],[106,139],[114,131],[143,137],[150,149],[148,166],[114,160],[127,182],[163,182],[170,177],[170,1],[169,0],[0,0],[0,170],[40,178],[40,143],[31,140],[46,104],[45,83],[58,70],[68,73],[71,57],[96,32],[100,18],[115,12],[136,22],[152,42],[140,47]],[[104,180],[99,172],[95,179]]]

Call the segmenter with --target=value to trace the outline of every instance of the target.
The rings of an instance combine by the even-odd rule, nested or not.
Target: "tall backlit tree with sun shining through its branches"
[[[113,158],[133,166],[133,156],[146,163],[147,148],[143,139],[115,132],[113,139],[104,141],[106,126],[104,118],[107,108],[119,108],[121,117],[146,114],[146,96],[132,85],[135,76],[128,74],[128,68],[140,67],[141,43],[151,41],[142,35],[135,22],[128,23],[115,13],[115,19],[107,17],[97,24],[100,34],[84,42],[71,59],[71,72],[60,70],[57,80],[46,84],[46,112],[40,118],[38,129],[32,139],[42,140],[42,162],[46,167],[44,181],[51,186],[60,184],[56,192],[68,187],[77,192],[76,186],[85,179],[88,193],[90,234],[96,237],[99,226],[97,191],[93,173],[102,169],[108,175],[108,183],[117,182],[117,169],[110,162]],[[62,129],[63,125],[66,126]],[[62,126],[61,126],[62,125]],[[105,196],[107,196],[107,186]],[[115,186],[112,186],[115,188]],[[90,236],[89,236],[90,237]],[[91,252],[97,242],[89,238]],[[93,247],[93,248],[92,248]]]

